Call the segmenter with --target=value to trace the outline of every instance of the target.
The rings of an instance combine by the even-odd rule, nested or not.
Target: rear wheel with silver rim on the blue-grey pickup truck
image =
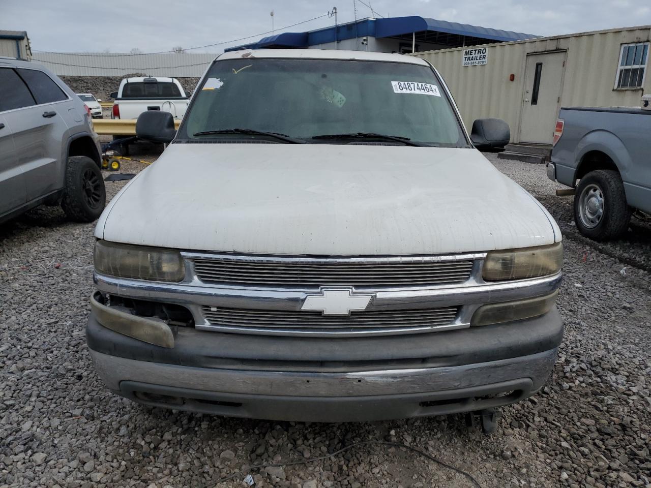
[[[626,232],[630,218],[618,172],[600,169],[581,178],[574,197],[574,221],[581,234],[595,241],[616,239]]]

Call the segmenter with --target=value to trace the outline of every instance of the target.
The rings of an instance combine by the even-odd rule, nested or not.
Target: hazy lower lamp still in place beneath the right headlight
[[[558,294],[559,291],[557,290],[544,297],[482,305],[473,314],[473,319],[470,324],[473,327],[477,327],[479,325],[512,322],[514,320],[523,320],[544,315],[554,306],[554,303],[556,303],[556,295]]]

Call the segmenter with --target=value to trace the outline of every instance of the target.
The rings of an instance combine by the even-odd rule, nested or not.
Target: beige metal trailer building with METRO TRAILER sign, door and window
[[[646,25],[415,56],[443,75],[467,128],[477,118],[503,118],[511,142],[551,144],[561,105],[640,106],[650,39]]]

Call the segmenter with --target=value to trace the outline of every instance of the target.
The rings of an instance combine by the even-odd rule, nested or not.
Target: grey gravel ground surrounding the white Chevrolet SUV
[[[140,152],[148,148],[139,148]],[[153,160],[132,148],[133,157]],[[650,226],[596,245],[577,235],[571,199],[542,165],[500,170],[539,198],[565,235],[564,344],[540,394],[501,410],[493,435],[463,416],[301,424],[147,409],[107,392],[84,338],[93,224],[38,208],[0,226],[0,488],[469,487],[451,470],[391,446],[268,468],[356,441],[396,441],[471,473],[482,487],[651,487]],[[122,172],[145,165],[124,162]],[[109,197],[124,182],[107,182]],[[242,470],[226,483],[216,481]]]

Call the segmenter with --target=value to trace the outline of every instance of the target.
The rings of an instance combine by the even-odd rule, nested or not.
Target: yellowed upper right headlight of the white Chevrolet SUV
[[[484,260],[482,275],[486,281],[520,280],[561,271],[563,245],[523,247],[510,251],[491,251]]]

